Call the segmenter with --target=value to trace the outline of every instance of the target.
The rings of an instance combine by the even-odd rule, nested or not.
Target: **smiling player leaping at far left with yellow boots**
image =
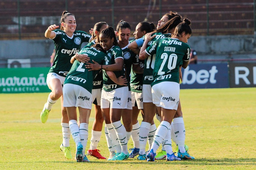
[[[52,92],[50,92],[47,102],[41,112],[40,118],[43,123],[48,119],[49,112],[54,103],[61,98],[62,106],[62,144],[60,145],[61,151],[64,152],[65,158],[72,159],[70,152],[70,129],[69,119],[66,108],[63,107],[62,85],[65,77],[67,76],[72,64],[70,63],[71,57],[78,53],[83,42],[89,42],[91,35],[84,31],[76,31],[75,16],[68,11],[64,11],[61,17],[61,27],[51,25],[45,31],[45,37],[54,41],[55,58],[53,66],[47,74],[47,85]],[[86,55],[76,58],[80,62],[87,62],[89,59]]]

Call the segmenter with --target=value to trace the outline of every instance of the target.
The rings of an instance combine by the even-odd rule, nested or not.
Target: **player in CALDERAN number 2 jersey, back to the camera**
[[[105,50],[100,44],[95,44],[90,48],[83,48],[79,54],[86,54],[91,61],[94,60],[105,65],[109,64],[110,57],[104,52]],[[89,69],[86,69],[85,65],[86,63],[75,60],[63,85],[63,107],[67,109],[70,132],[77,146],[77,162],[89,162],[85,155],[85,148],[93,102],[93,79],[99,73],[99,70],[88,71]],[[77,123],[77,107],[79,110],[79,126]]]

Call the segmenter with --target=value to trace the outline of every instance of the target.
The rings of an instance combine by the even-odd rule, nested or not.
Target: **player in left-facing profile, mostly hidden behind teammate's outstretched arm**
[[[150,33],[155,29],[155,26],[153,23],[149,22],[140,22],[135,29],[135,32],[133,33],[135,39],[142,38],[143,35],[146,33]],[[132,42],[132,41],[131,41]],[[130,44],[130,43],[129,43]],[[137,60],[139,61],[139,66],[144,69],[144,60],[140,60],[137,56]],[[134,68],[132,66],[132,68]],[[131,95],[132,95],[132,140],[133,140],[133,146],[134,148],[130,149],[130,156],[129,158],[134,158],[136,155],[139,154],[139,128],[140,124],[138,122],[138,115],[141,111],[143,116],[143,96],[142,96],[142,85],[143,85],[143,73],[137,73],[133,69],[131,69],[131,81],[130,81],[130,87],[131,87]],[[151,122],[152,125],[154,125],[154,122]],[[151,132],[152,133],[152,132]],[[151,139],[151,133],[149,133],[148,137],[148,143],[151,147],[152,140]]]

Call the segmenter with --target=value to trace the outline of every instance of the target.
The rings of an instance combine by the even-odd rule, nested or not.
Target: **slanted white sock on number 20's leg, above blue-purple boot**
[[[152,144],[152,147],[151,147],[151,149],[153,149],[154,153],[159,148],[159,146],[161,145],[163,139],[167,135],[169,127],[170,127],[170,123],[169,122],[162,121],[160,123],[160,125],[158,126],[158,128],[156,129],[154,141],[153,141],[153,144]]]

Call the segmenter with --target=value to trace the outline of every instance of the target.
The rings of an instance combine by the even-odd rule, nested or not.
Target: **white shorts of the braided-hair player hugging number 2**
[[[101,108],[126,109],[128,99],[128,86],[120,87],[110,92],[102,90]]]

